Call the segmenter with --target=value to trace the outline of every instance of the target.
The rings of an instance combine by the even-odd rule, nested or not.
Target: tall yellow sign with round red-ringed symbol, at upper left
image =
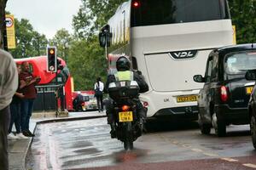
[[[15,17],[13,14],[5,15],[8,48],[16,48],[15,42]]]

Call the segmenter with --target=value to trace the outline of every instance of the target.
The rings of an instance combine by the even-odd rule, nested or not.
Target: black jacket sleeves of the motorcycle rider
[[[148,84],[144,81],[143,76],[133,71],[133,79],[137,82],[140,93],[148,92]],[[114,75],[109,75],[106,82],[106,93],[108,93],[108,85],[110,82],[116,82]]]

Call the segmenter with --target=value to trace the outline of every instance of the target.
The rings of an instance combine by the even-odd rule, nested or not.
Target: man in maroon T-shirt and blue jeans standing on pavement
[[[21,131],[26,137],[35,136],[29,130],[29,122],[32,116],[34,100],[37,97],[35,85],[40,82],[40,80],[40,77],[32,75],[30,72],[30,64],[27,61],[21,63],[20,92],[24,95],[21,102]]]

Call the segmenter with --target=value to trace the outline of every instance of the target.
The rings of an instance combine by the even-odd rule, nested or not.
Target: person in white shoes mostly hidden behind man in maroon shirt
[[[17,71],[18,74],[20,74],[20,65],[16,64],[17,66]],[[18,78],[19,80],[19,78]],[[27,139],[26,136],[23,135],[21,132],[21,127],[20,127],[20,121],[21,121],[21,116],[20,116],[20,104],[21,104],[21,99],[24,98],[24,95],[20,93],[20,83],[19,87],[17,88],[17,91],[15,92],[15,95],[12,99],[11,104],[9,105],[10,108],[10,114],[11,114],[11,119],[9,123],[9,135],[8,139]],[[12,128],[15,123],[15,128],[16,128],[16,135],[12,133]]]

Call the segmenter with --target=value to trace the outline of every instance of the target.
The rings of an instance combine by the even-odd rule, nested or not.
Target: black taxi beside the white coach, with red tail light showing
[[[225,136],[226,126],[247,124],[247,104],[253,82],[245,78],[247,70],[256,69],[256,44],[241,44],[212,50],[207,59],[205,77],[195,75],[195,82],[204,82],[199,93],[201,133],[214,127],[218,136]]]

